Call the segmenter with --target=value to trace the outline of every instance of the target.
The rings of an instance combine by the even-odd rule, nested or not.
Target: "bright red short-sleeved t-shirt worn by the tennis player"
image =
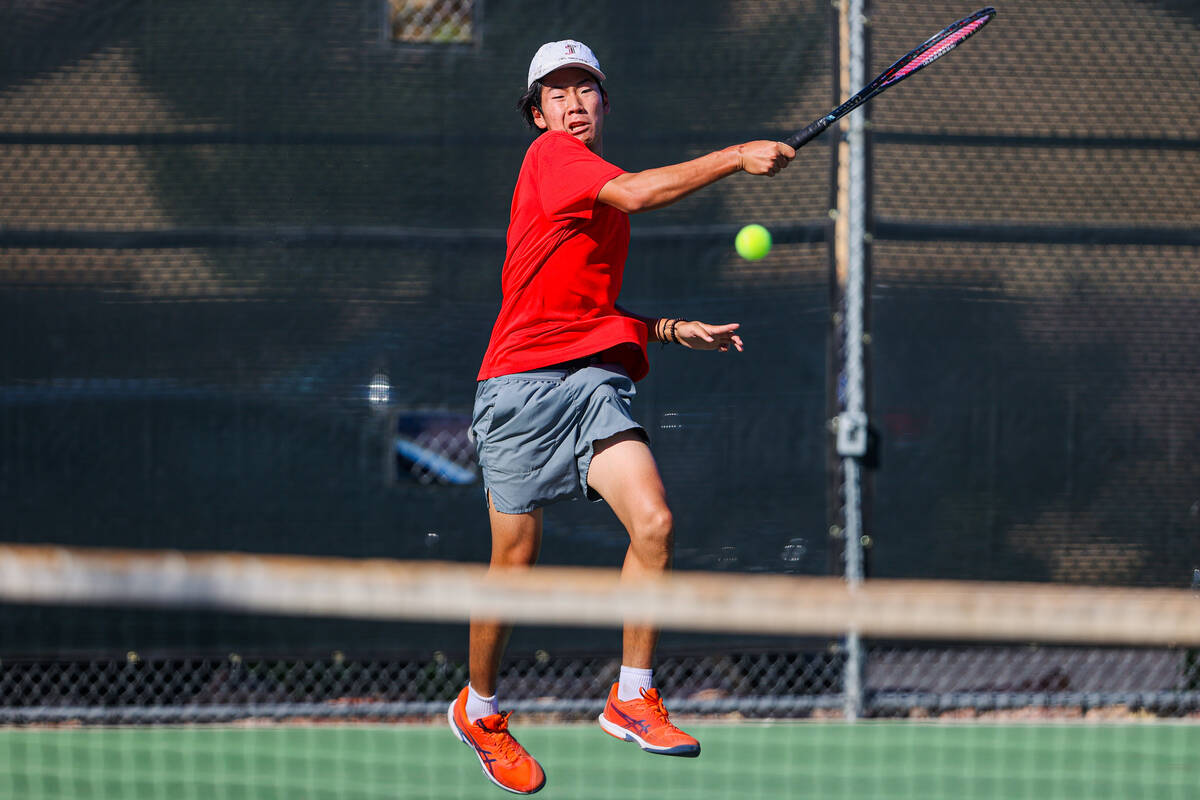
[[[617,309],[629,215],[600,203],[625,170],[563,131],[539,136],[512,193],[504,300],[479,380],[602,353],[641,380],[646,324]]]

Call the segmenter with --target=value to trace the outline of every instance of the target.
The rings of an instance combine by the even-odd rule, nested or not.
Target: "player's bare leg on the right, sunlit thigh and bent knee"
[[[659,468],[642,438],[626,431],[596,441],[588,485],[608,503],[629,531],[622,579],[637,581],[670,570],[674,521]],[[626,625],[622,663],[650,669],[658,640],[658,628]]]

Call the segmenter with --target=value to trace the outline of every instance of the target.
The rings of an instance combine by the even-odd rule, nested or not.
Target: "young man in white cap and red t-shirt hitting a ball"
[[[629,531],[623,577],[671,566],[672,518],[646,432],[630,416],[647,342],[742,350],[738,325],[644,318],[617,306],[629,215],[670,205],[738,172],[774,175],[796,156],[750,142],[679,164],[626,173],[604,161],[608,97],[595,55],[575,41],[544,44],[521,101],[538,131],[512,197],[503,302],[484,356],[472,434],[492,528],[493,567],[532,566],[542,507],[604,499]],[[509,733],[496,681],[511,626],[473,619],[470,682],[450,726],[504,789],[530,794],[545,772]],[[600,726],[650,753],[697,756],[653,685],[658,631],[626,626],[620,680]]]

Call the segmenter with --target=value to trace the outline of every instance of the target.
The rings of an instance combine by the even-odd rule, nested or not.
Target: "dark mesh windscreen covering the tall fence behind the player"
[[[384,11],[0,6],[0,540],[486,560],[479,483],[392,447],[469,414],[532,53],[593,47],[630,170],[782,137],[834,94],[815,0],[488,0],[468,44],[390,41]],[[874,0],[869,72],[970,11]],[[1014,1],[872,101],[869,575],[1180,587],[1200,565],[1198,25],[1189,2]],[[748,344],[655,348],[638,385],[682,569],[836,570],[835,138],[632,221],[623,303]],[[758,263],[732,248],[749,222],[775,234]],[[545,563],[625,543],[604,506],[546,515]],[[11,652],[463,644],[4,610]]]

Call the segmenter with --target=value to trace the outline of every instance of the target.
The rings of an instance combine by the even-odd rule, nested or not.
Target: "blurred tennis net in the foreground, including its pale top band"
[[[1182,589],[0,546],[0,796],[498,793],[444,716],[480,610],[521,625],[500,692],[547,798],[1200,786]],[[667,631],[655,679],[698,759],[595,724],[623,620]]]

